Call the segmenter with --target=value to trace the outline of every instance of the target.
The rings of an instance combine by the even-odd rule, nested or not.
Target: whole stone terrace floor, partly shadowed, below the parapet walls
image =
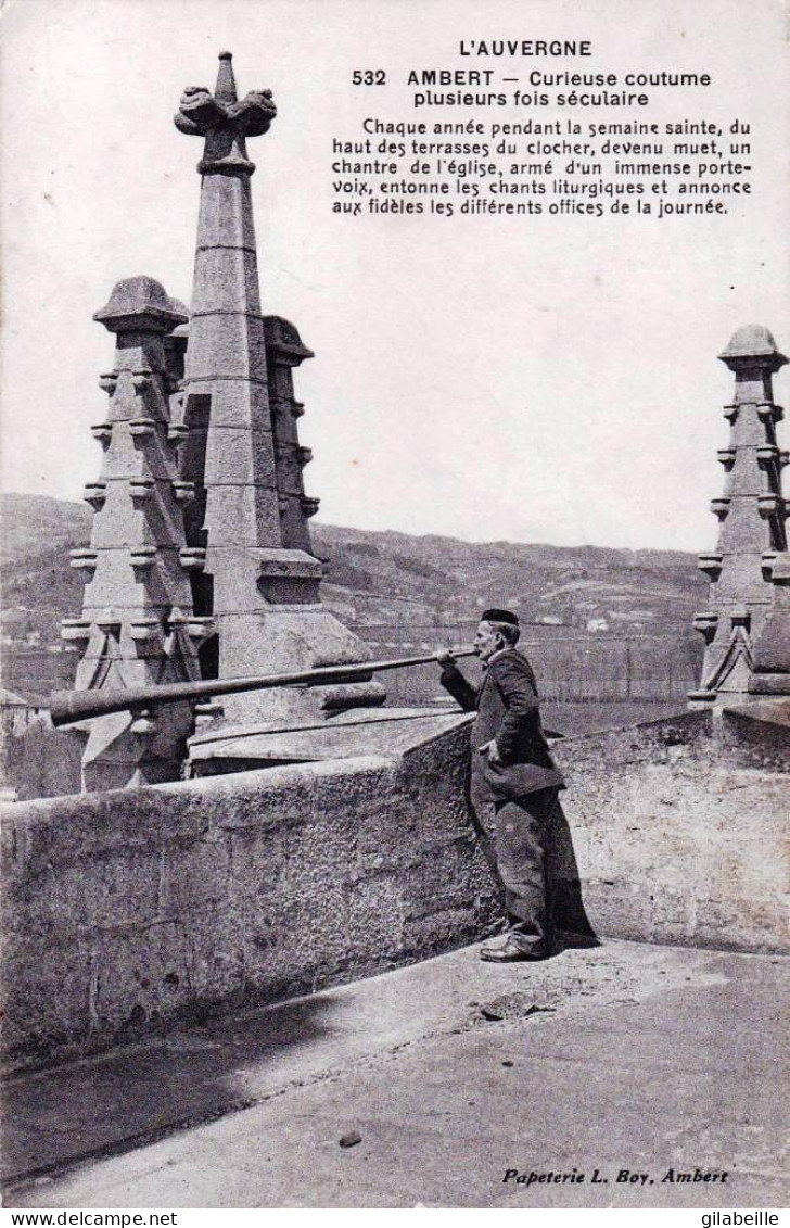
[[[789,970],[469,947],[174,1030],[6,1084],[5,1206],[783,1206]]]

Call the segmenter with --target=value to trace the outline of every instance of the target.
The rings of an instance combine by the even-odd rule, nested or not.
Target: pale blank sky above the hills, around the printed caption
[[[271,88],[278,108],[249,142],[261,300],[315,351],[296,382],[319,519],[715,543],[732,388],[716,355],[748,323],[790,346],[785,5],[6,0],[0,25],[4,489],[79,500],[98,475],[90,426],[113,344],[92,316],[113,284],[148,274],[189,302],[201,146],[172,117],[185,86],[213,88],[227,48],[239,93]],[[750,122],[752,196],[662,222],[332,212],[332,138],[358,138],[367,114],[469,117],[417,115],[410,70],[579,69],[459,56],[460,39],[540,37],[589,38],[588,71],[710,72],[704,95],[659,91],[638,118]],[[358,68],[384,68],[388,86],[355,87]],[[789,381],[777,377],[779,402]]]

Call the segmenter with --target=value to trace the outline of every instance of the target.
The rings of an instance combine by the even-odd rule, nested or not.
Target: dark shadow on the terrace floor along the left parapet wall
[[[326,1040],[334,1009],[326,996],[283,1002],[10,1079],[0,1093],[0,1180],[110,1154],[259,1102],[269,1068],[294,1046]]]

